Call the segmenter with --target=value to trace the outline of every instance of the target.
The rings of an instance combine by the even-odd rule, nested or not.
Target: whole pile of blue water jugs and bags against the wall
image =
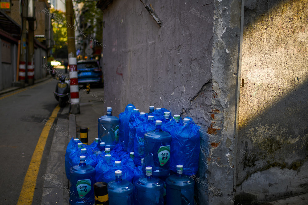
[[[128,104],[117,118],[107,108],[92,144],[71,139],[65,155],[71,204],[194,204],[189,176],[198,169],[199,127],[165,108],[149,110]],[[107,183],[107,197],[94,198],[95,182]]]

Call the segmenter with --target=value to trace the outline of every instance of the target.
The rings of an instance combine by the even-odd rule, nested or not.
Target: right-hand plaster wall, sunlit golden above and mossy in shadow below
[[[307,1],[245,1],[236,181],[242,203],[308,192],[307,47]]]

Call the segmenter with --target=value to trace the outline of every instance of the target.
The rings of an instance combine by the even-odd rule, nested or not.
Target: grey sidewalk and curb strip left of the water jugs
[[[87,94],[80,89],[80,114],[68,113],[66,106],[62,115],[69,115],[69,119],[58,119],[57,125],[63,130],[68,130],[74,138],[80,139],[80,127],[88,128],[88,143],[91,144],[98,135],[98,118],[105,115],[103,99],[103,88],[91,89]],[[71,139],[55,132],[48,157],[46,173],[43,185],[42,205],[45,204],[69,204],[69,181],[65,173],[65,151]]]

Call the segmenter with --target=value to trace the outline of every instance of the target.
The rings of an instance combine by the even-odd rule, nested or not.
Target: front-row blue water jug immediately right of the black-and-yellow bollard
[[[127,180],[122,180],[122,171],[115,171],[115,180],[107,185],[109,205],[133,205],[134,186]]]

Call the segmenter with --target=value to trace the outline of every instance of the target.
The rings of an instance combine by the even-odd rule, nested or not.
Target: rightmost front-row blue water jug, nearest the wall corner
[[[195,181],[183,174],[183,165],[176,165],[176,174],[166,179],[167,205],[194,205]]]

